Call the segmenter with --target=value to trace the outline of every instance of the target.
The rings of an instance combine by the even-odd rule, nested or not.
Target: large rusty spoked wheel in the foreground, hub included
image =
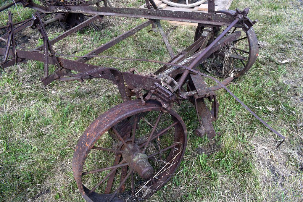
[[[175,173],[187,131],[180,116],[161,104],[132,100],[99,116],[73,156],[75,181],[87,201],[146,199]]]

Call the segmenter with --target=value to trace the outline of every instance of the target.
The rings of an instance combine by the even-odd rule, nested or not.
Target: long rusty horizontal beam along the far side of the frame
[[[180,22],[193,22],[207,25],[228,26],[234,18],[230,15],[169,11],[159,9],[140,9],[140,8],[109,8],[109,7],[91,7],[91,6],[40,6],[32,1],[28,1],[27,6],[43,13],[53,13],[60,9],[63,13],[86,13],[93,15],[108,15],[131,18],[146,18],[154,20],[170,20]],[[61,11],[62,10],[62,11]],[[242,27],[236,23],[235,27]]]

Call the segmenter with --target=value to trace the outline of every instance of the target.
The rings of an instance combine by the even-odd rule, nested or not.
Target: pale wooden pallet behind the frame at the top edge
[[[223,10],[223,9],[228,9],[231,5],[232,0],[215,0],[215,11],[217,10]],[[196,6],[195,8],[176,8],[169,6],[160,0],[155,0],[156,5],[158,6],[159,9],[163,10],[170,10],[170,11],[186,11],[186,12],[207,12],[207,2],[204,4],[201,4],[200,6]],[[143,4],[139,8],[146,8],[146,4]],[[197,23],[192,23],[192,22],[176,22],[176,21],[169,21],[173,25],[191,25],[191,26],[198,26]]]

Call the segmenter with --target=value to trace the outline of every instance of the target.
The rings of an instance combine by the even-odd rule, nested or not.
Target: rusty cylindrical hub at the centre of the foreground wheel
[[[148,157],[146,154],[142,153],[138,144],[128,144],[131,151],[124,148],[122,153],[123,159],[128,162],[130,168],[136,171],[140,177],[143,179],[148,179],[154,173],[154,169],[148,162]]]

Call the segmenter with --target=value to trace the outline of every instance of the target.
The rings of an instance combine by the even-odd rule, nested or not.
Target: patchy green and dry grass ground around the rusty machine
[[[117,2],[114,2],[114,5]],[[123,1],[136,7],[143,1]],[[250,7],[249,16],[260,41],[259,57],[251,70],[229,85],[273,128],[286,136],[275,149],[277,137],[253,118],[224,90],[218,91],[219,119],[214,140],[198,138],[195,109],[185,101],[175,110],[188,129],[188,146],[176,175],[150,200],[154,201],[303,201],[303,3],[297,0],[234,0],[231,9]],[[16,9],[11,9],[20,20]],[[21,17],[32,10],[19,7]],[[0,14],[0,24],[6,22]],[[118,19],[118,20],[117,20]],[[82,55],[142,20],[106,17],[102,31],[88,27],[56,43],[64,54]],[[163,23],[175,52],[193,41],[193,27]],[[101,24],[98,24],[101,26]],[[122,41],[104,55],[168,60],[158,33],[147,29]],[[48,27],[50,38],[63,30]],[[41,44],[35,31],[30,44]],[[148,42],[148,43],[147,43]],[[280,64],[279,61],[291,59]],[[145,62],[93,59],[92,64],[143,73],[159,65]],[[7,68],[0,76],[0,200],[83,201],[72,176],[72,155],[78,138],[99,115],[121,102],[111,82],[55,81],[44,86],[43,64],[28,61]]]

